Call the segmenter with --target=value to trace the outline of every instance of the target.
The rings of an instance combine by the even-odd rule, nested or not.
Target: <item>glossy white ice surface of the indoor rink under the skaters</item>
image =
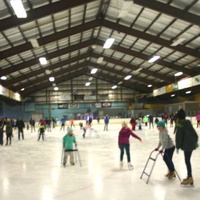
[[[122,120],[123,121],[123,120]],[[77,124],[76,124],[77,125]],[[25,130],[25,140],[18,141],[17,133],[11,146],[0,146],[0,199],[1,200],[197,200],[200,196],[200,148],[193,152],[192,169],[194,186],[180,186],[176,177],[165,177],[167,168],[161,155],[149,183],[147,176],[140,179],[150,152],[157,147],[158,131],[154,127],[142,127],[135,133],[142,143],[130,138],[133,170],[128,170],[126,155],[124,168],[119,167],[118,132],[121,124],[109,124],[103,131],[103,123],[93,123],[96,133],[82,138],[82,130],[74,129],[82,166],[61,164],[62,137],[60,127],[45,133],[45,141],[37,141],[38,133]],[[196,127],[195,127],[196,128]],[[174,139],[173,128],[168,125]],[[200,128],[196,129],[198,135]],[[4,136],[5,144],[5,136]],[[183,152],[174,153],[175,168],[186,177]],[[150,163],[150,167],[152,166]]]

